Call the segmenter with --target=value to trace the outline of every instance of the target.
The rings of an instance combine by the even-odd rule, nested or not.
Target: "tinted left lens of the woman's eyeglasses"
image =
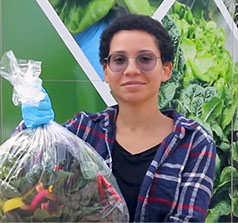
[[[128,63],[128,58],[123,54],[111,54],[108,58],[108,66],[112,72],[123,72]]]

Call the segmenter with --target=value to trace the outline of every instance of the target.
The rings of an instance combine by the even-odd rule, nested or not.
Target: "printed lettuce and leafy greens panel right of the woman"
[[[160,107],[176,108],[201,123],[214,137],[216,178],[206,221],[231,222],[232,214],[235,222],[238,220],[238,151],[233,133],[237,131],[238,65],[225,48],[225,31],[209,18],[204,8],[192,11],[177,2],[169,16],[178,30],[171,29],[170,33],[177,41],[175,70],[182,75],[162,87]],[[171,91],[174,95],[168,98]]]

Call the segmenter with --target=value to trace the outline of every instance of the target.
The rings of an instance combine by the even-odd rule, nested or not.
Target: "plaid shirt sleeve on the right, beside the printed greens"
[[[205,221],[212,196],[215,158],[214,142],[204,136],[197,139],[182,173],[177,207],[168,222]]]

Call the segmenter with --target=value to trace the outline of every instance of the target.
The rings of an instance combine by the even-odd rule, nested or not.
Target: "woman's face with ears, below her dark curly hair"
[[[114,55],[110,59],[115,61],[112,64],[115,66],[111,66],[110,69],[108,64],[104,64],[105,81],[109,84],[118,103],[122,101],[140,103],[154,99],[157,101],[160,84],[170,78],[172,64],[162,64],[154,36],[139,30],[120,31],[111,40],[109,55]],[[142,60],[138,59],[142,61],[142,66],[140,62],[137,64],[135,62],[135,57],[138,55],[142,55]],[[147,60],[145,60],[147,55],[158,57],[152,70],[147,67]],[[127,57],[129,57],[128,65],[125,65],[122,70],[117,69],[118,65],[120,68],[121,63],[125,64],[123,61]],[[144,65],[146,72],[142,70]]]

